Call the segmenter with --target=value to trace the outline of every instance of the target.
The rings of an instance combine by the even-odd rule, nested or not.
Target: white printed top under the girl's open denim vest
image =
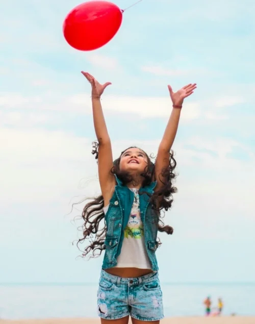
[[[143,223],[140,217],[139,194],[136,188],[131,188],[134,192],[134,203],[131,209],[129,222],[124,229],[124,238],[117,258],[116,268],[140,268],[151,269],[147,256]],[[104,208],[105,214],[109,209],[109,205]]]

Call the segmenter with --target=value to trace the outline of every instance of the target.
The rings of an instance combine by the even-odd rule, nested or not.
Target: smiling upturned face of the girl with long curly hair
[[[121,171],[142,173],[147,165],[146,154],[137,147],[127,148],[120,157],[119,168]]]

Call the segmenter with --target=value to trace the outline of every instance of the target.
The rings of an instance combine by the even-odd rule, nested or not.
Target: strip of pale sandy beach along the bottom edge
[[[30,319],[30,320],[4,320],[1,324],[99,324],[98,318],[68,318],[68,319]],[[109,321],[110,323],[110,321]],[[146,323],[146,322],[144,322]],[[165,318],[164,324],[255,324],[255,317],[222,316],[222,317],[176,317]],[[130,321],[131,324],[131,321]]]

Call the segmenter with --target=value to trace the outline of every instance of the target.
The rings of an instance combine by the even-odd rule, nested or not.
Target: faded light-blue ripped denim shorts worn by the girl
[[[121,278],[101,270],[97,310],[98,315],[105,319],[128,315],[143,321],[164,318],[158,272],[137,278]]]

